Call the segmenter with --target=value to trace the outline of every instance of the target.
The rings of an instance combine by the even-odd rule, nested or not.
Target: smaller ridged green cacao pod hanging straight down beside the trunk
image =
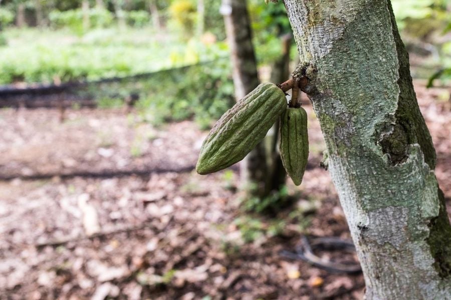
[[[280,117],[279,150],[282,163],[296,185],[300,185],[309,157],[307,112],[289,107]]]

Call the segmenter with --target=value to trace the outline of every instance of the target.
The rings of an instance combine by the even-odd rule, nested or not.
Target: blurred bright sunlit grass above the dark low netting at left
[[[127,76],[211,60],[223,50],[149,28],[96,29],[82,37],[69,30],[10,28],[4,36],[0,84]]]

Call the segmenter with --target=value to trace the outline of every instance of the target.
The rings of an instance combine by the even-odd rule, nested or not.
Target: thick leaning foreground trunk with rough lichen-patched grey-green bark
[[[285,5],[366,298],[450,299],[451,227],[389,0]]]

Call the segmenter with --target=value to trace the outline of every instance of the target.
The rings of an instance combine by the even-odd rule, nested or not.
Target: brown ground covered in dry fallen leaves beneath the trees
[[[449,90],[415,89],[451,212]],[[0,299],[361,298],[361,274],[280,255],[303,234],[350,238],[304,102],[308,169],[300,187],[287,180],[294,201],[271,216],[243,212],[237,167],[193,171],[207,134],[193,122],[155,128],[121,109],[69,110],[63,123],[57,110],[0,111]]]

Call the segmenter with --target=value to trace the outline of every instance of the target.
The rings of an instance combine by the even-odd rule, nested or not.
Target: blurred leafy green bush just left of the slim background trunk
[[[161,72],[146,83],[138,103],[143,120],[160,125],[194,117],[206,129],[234,103],[234,87],[227,60]]]

